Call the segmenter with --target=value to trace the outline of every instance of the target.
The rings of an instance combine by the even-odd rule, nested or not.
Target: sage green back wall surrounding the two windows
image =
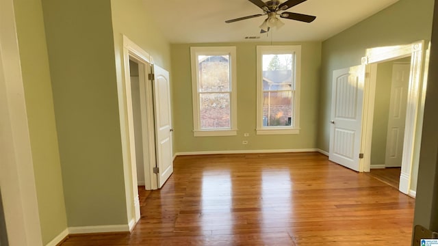
[[[287,150],[315,148],[318,127],[318,91],[321,42],[302,42],[300,134],[255,135],[256,46],[261,43],[172,44],[172,90],[175,122],[175,152],[225,150]],[[275,43],[277,45],[297,43]],[[274,45],[275,45],[274,44]],[[263,43],[263,45],[269,45]],[[194,137],[190,46],[236,46],[237,49],[237,136]],[[244,137],[249,133],[249,137]],[[242,140],[248,140],[243,145]]]

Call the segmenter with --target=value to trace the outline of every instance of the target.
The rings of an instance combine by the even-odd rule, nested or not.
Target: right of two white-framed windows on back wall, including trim
[[[298,134],[301,46],[257,46],[257,134]]]

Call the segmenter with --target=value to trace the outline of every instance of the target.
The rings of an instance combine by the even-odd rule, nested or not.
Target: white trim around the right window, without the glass
[[[292,126],[263,126],[263,54],[295,54],[295,96],[293,102],[294,122]],[[283,135],[300,133],[300,81],[301,81],[301,46],[300,45],[279,45],[279,46],[257,46],[257,135]]]

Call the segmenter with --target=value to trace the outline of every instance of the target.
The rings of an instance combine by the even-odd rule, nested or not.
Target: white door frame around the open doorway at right
[[[362,58],[362,64],[366,65],[365,72],[365,91],[364,91],[364,107],[363,107],[363,130],[362,130],[362,159],[361,172],[370,172],[371,160],[371,138],[372,138],[372,122],[374,117],[374,97],[376,90],[376,71],[377,64],[382,61],[390,61],[400,59],[402,57],[411,56],[411,72],[409,75],[409,92],[407,100],[407,115],[404,130],[403,154],[402,154],[402,171],[400,174],[400,187],[402,193],[409,194],[411,187],[411,171],[413,164],[414,149],[420,144],[415,137],[418,128],[422,126],[417,121],[419,111],[422,111],[420,104],[420,90],[422,78],[424,75],[424,41],[414,42],[412,44],[379,47],[367,50],[367,55]],[[424,87],[423,92],[424,94]]]

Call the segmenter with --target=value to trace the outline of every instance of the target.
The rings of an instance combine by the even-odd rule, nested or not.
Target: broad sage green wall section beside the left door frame
[[[42,7],[68,227],[126,225],[110,1]]]

